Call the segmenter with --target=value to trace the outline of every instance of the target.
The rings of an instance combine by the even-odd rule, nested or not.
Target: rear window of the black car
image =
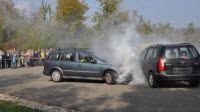
[[[197,51],[192,46],[174,46],[174,47],[167,47],[164,50],[163,57],[167,59],[173,59],[173,58],[196,58],[197,57]]]

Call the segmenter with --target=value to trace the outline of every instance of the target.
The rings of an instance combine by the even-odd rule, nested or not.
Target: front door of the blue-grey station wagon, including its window
[[[96,60],[90,53],[79,52],[77,62],[79,76],[100,77],[100,64]]]

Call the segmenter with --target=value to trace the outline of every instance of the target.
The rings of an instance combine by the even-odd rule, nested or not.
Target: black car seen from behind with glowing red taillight
[[[200,55],[189,43],[151,45],[142,51],[140,61],[153,88],[162,81],[187,81],[192,87],[200,84]]]

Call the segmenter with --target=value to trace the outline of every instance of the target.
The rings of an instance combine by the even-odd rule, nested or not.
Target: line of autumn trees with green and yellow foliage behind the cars
[[[137,11],[122,10],[122,0],[96,1],[100,8],[93,15],[94,25],[88,26],[85,21],[89,17],[85,13],[89,7],[83,0],[57,0],[55,11],[47,1],[40,0],[39,9],[29,17],[20,13],[12,0],[1,0],[0,48],[89,48],[94,38],[106,40],[111,29],[120,31],[127,23],[135,24],[141,38],[179,33],[185,41],[200,43],[199,29],[193,23],[184,29],[174,29],[169,23],[152,24]]]

